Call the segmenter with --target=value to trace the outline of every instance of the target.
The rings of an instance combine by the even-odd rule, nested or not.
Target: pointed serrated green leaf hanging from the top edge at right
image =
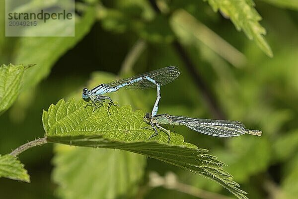
[[[215,12],[220,9],[230,18],[238,31],[242,29],[249,39],[253,39],[269,57],[273,57],[272,50],[263,37],[266,30],[259,23],[262,17],[254,8],[252,0],[208,0],[208,2]]]

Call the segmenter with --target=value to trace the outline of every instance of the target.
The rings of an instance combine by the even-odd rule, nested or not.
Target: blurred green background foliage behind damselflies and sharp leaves
[[[212,2],[217,1],[209,1]],[[226,2],[237,4],[232,0]],[[251,8],[252,1],[239,2]],[[270,55],[268,48],[256,41],[259,38],[249,40],[228,19],[229,11],[242,12],[241,6],[226,5],[227,10],[214,12],[208,2],[202,0],[87,0],[75,3],[75,37],[18,38],[5,37],[4,0],[0,0],[0,64],[37,64],[26,71],[18,100],[0,116],[1,154],[9,153],[27,140],[43,136],[42,110],[51,103],[62,98],[79,99],[81,89],[86,86],[91,88],[116,78],[173,65],[179,67],[181,74],[161,88],[159,113],[239,120],[249,129],[263,131],[261,137],[217,138],[186,127],[175,127],[184,135],[185,141],[210,150],[210,154],[226,163],[225,170],[234,176],[249,198],[297,197],[296,0],[255,1],[255,8],[263,18],[260,23],[267,30],[265,39],[271,46],[273,58],[266,55]],[[245,23],[257,23],[254,19],[258,18],[257,13],[247,16],[249,18],[238,19],[244,23],[242,27],[246,27]],[[121,105],[131,104],[135,109],[149,111],[156,91],[123,90],[110,96]],[[76,151],[70,156],[69,150]],[[92,165],[82,159],[86,154],[91,159],[96,157],[92,159]],[[98,189],[103,189],[100,186],[106,186],[107,181],[111,181],[109,185],[117,181],[124,185],[132,178],[136,179],[131,186],[121,192],[118,190],[119,195],[117,191],[92,194],[94,189],[86,188],[84,192],[89,195],[83,196],[90,199],[195,198],[176,189],[151,188],[151,171],[161,176],[171,171],[182,184],[233,197],[215,182],[196,174],[153,159],[135,157],[130,162],[130,155],[126,155],[126,161],[121,161],[118,158],[122,155],[114,150],[67,149],[53,144],[35,147],[19,157],[31,175],[31,183],[1,178],[1,197],[66,199],[77,195],[79,198],[80,187],[64,189],[63,186],[72,180],[61,179],[62,171],[68,172],[73,179],[77,177],[82,184],[96,185]],[[111,157],[115,160],[111,161]],[[84,175],[79,165],[72,167],[74,160],[80,160],[84,171],[93,178]],[[104,173],[105,167],[109,169],[106,165],[109,161],[115,167],[139,166],[139,169],[136,174],[124,175],[122,179],[118,179],[119,175],[110,179],[112,176],[92,172],[97,170],[94,165],[98,165]],[[119,172],[129,173],[128,170]],[[83,175],[78,175],[80,172]]]

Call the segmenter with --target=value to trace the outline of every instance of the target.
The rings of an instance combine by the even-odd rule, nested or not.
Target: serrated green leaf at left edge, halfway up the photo
[[[19,95],[25,69],[31,65],[0,66],[0,115],[7,110]]]

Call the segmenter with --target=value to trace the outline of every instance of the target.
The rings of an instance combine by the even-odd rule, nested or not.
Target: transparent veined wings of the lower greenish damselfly
[[[172,116],[173,124],[185,125],[195,131],[218,137],[232,137],[243,135],[246,131],[243,123],[232,120],[198,119],[185,116]]]

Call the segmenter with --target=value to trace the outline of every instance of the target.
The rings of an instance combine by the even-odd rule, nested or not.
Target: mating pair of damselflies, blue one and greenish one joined
[[[243,134],[251,134],[260,136],[262,131],[246,129],[244,124],[239,121],[232,120],[214,120],[214,119],[200,119],[186,116],[173,116],[169,114],[157,115],[160,95],[160,86],[166,85],[175,80],[180,75],[179,69],[175,66],[169,66],[154,71],[150,71],[141,75],[136,75],[130,78],[116,80],[107,84],[100,84],[97,87],[88,90],[84,88],[82,91],[82,98],[89,101],[86,106],[94,106],[96,108],[103,105],[105,100],[109,100],[109,106],[118,105],[108,96],[103,96],[106,93],[116,92],[119,89],[129,90],[144,90],[155,88],[157,90],[157,98],[152,108],[151,113],[146,113],[144,121],[149,123],[154,130],[154,133],[148,138],[158,134],[156,127],[168,135],[168,142],[170,140],[170,131],[161,125],[185,125],[197,132],[218,137],[232,137]]]

